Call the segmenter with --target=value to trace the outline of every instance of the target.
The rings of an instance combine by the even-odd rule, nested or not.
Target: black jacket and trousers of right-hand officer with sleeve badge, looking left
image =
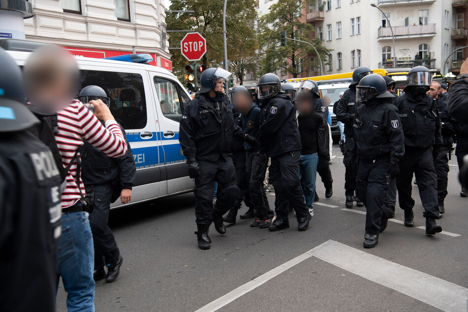
[[[393,214],[384,208],[390,163],[398,163],[405,153],[397,108],[375,98],[360,105],[355,115],[354,138],[359,158],[356,196],[366,206],[366,233],[378,235],[382,215],[390,218]]]

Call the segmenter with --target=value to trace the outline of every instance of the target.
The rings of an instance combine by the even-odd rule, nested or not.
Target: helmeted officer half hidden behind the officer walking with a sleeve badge
[[[344,153],[343,164],[345,167],[344,173],[344,189],[346,195],[345,207],[352,208],[353,201],[356,200],[356,206],[362,207],[364,204],[354,196],[354,189],[356,188],[356,159],[354,158],[354,114],[356,113],[359,103],[355,103],[356,99],[356,86],[361,79],[367,75],[372,74],[373,71],[369,67],[361,66],[353,71],[353,81],[349,85],[341,101],[337,106],[337,120],[344,124]]]

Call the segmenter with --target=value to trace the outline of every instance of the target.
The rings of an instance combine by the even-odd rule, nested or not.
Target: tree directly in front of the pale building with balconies
[[[313,48],[306,43],[286,40],[285,47],[280,46],[281,32],[291,39],[298,39],[312,43],[322,60],[331,50],[321,45],[320,38],[311,40],[314,28],[311,24],[301,22],[304,8],[309,6],[308,0],[279,0],[270,7],[270,12],[260,19],[259,42],[263,52],[259,61],[260,73],[267,73],[282,69],[282,72],[292,74],[296,78],[299,74],[318,65],[318,60],[311,62],[306,57],[315,54]],[[302,68],[302,69],[301,69]]]

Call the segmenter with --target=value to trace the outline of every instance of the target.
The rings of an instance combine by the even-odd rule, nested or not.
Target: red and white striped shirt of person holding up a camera
[[[59,132],[55,140],[66,168],[76,150],[83,145],[83,140],[104,152],[110,157],[124,156],[127,151],[124,135],[119,124],[108,120],[103,126],[94,114],[78,100],[73,101],[65,109],[58,112]],[[80,157],[78,153],[77,157]],[[66,188],[62,193],[62,208],[74,205],[81,194],[76,185],[76,160],[66,176]],[[80,188],[85,194],[85,185],[80,178]]]

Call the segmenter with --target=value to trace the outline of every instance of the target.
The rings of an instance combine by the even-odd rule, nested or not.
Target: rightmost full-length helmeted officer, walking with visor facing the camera
[[[442,231],[438,218],[437,176],[433,151],[442,145],[440,118],[436,100],[426,94],[432,82],[432,73],[424,66],[411,68],[406,78],[405,94],[397,97],[397,106],[405,134],[405,156],[400,161],[401,175],[397,180],[400,208],[405,211],[405,226],[414,226],[411,198],[413,173],[418,181],[419,197],[424,206],[426,235]]]

